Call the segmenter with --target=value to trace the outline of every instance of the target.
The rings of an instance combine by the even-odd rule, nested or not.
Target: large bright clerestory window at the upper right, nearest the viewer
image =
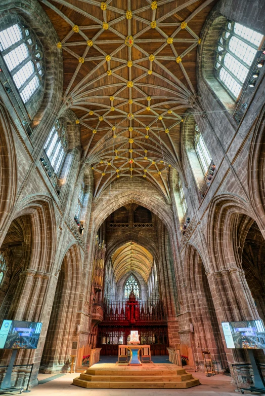
[[[237,22],[227,22],[215,49],[217,80],[237,99],[263,35]]]

